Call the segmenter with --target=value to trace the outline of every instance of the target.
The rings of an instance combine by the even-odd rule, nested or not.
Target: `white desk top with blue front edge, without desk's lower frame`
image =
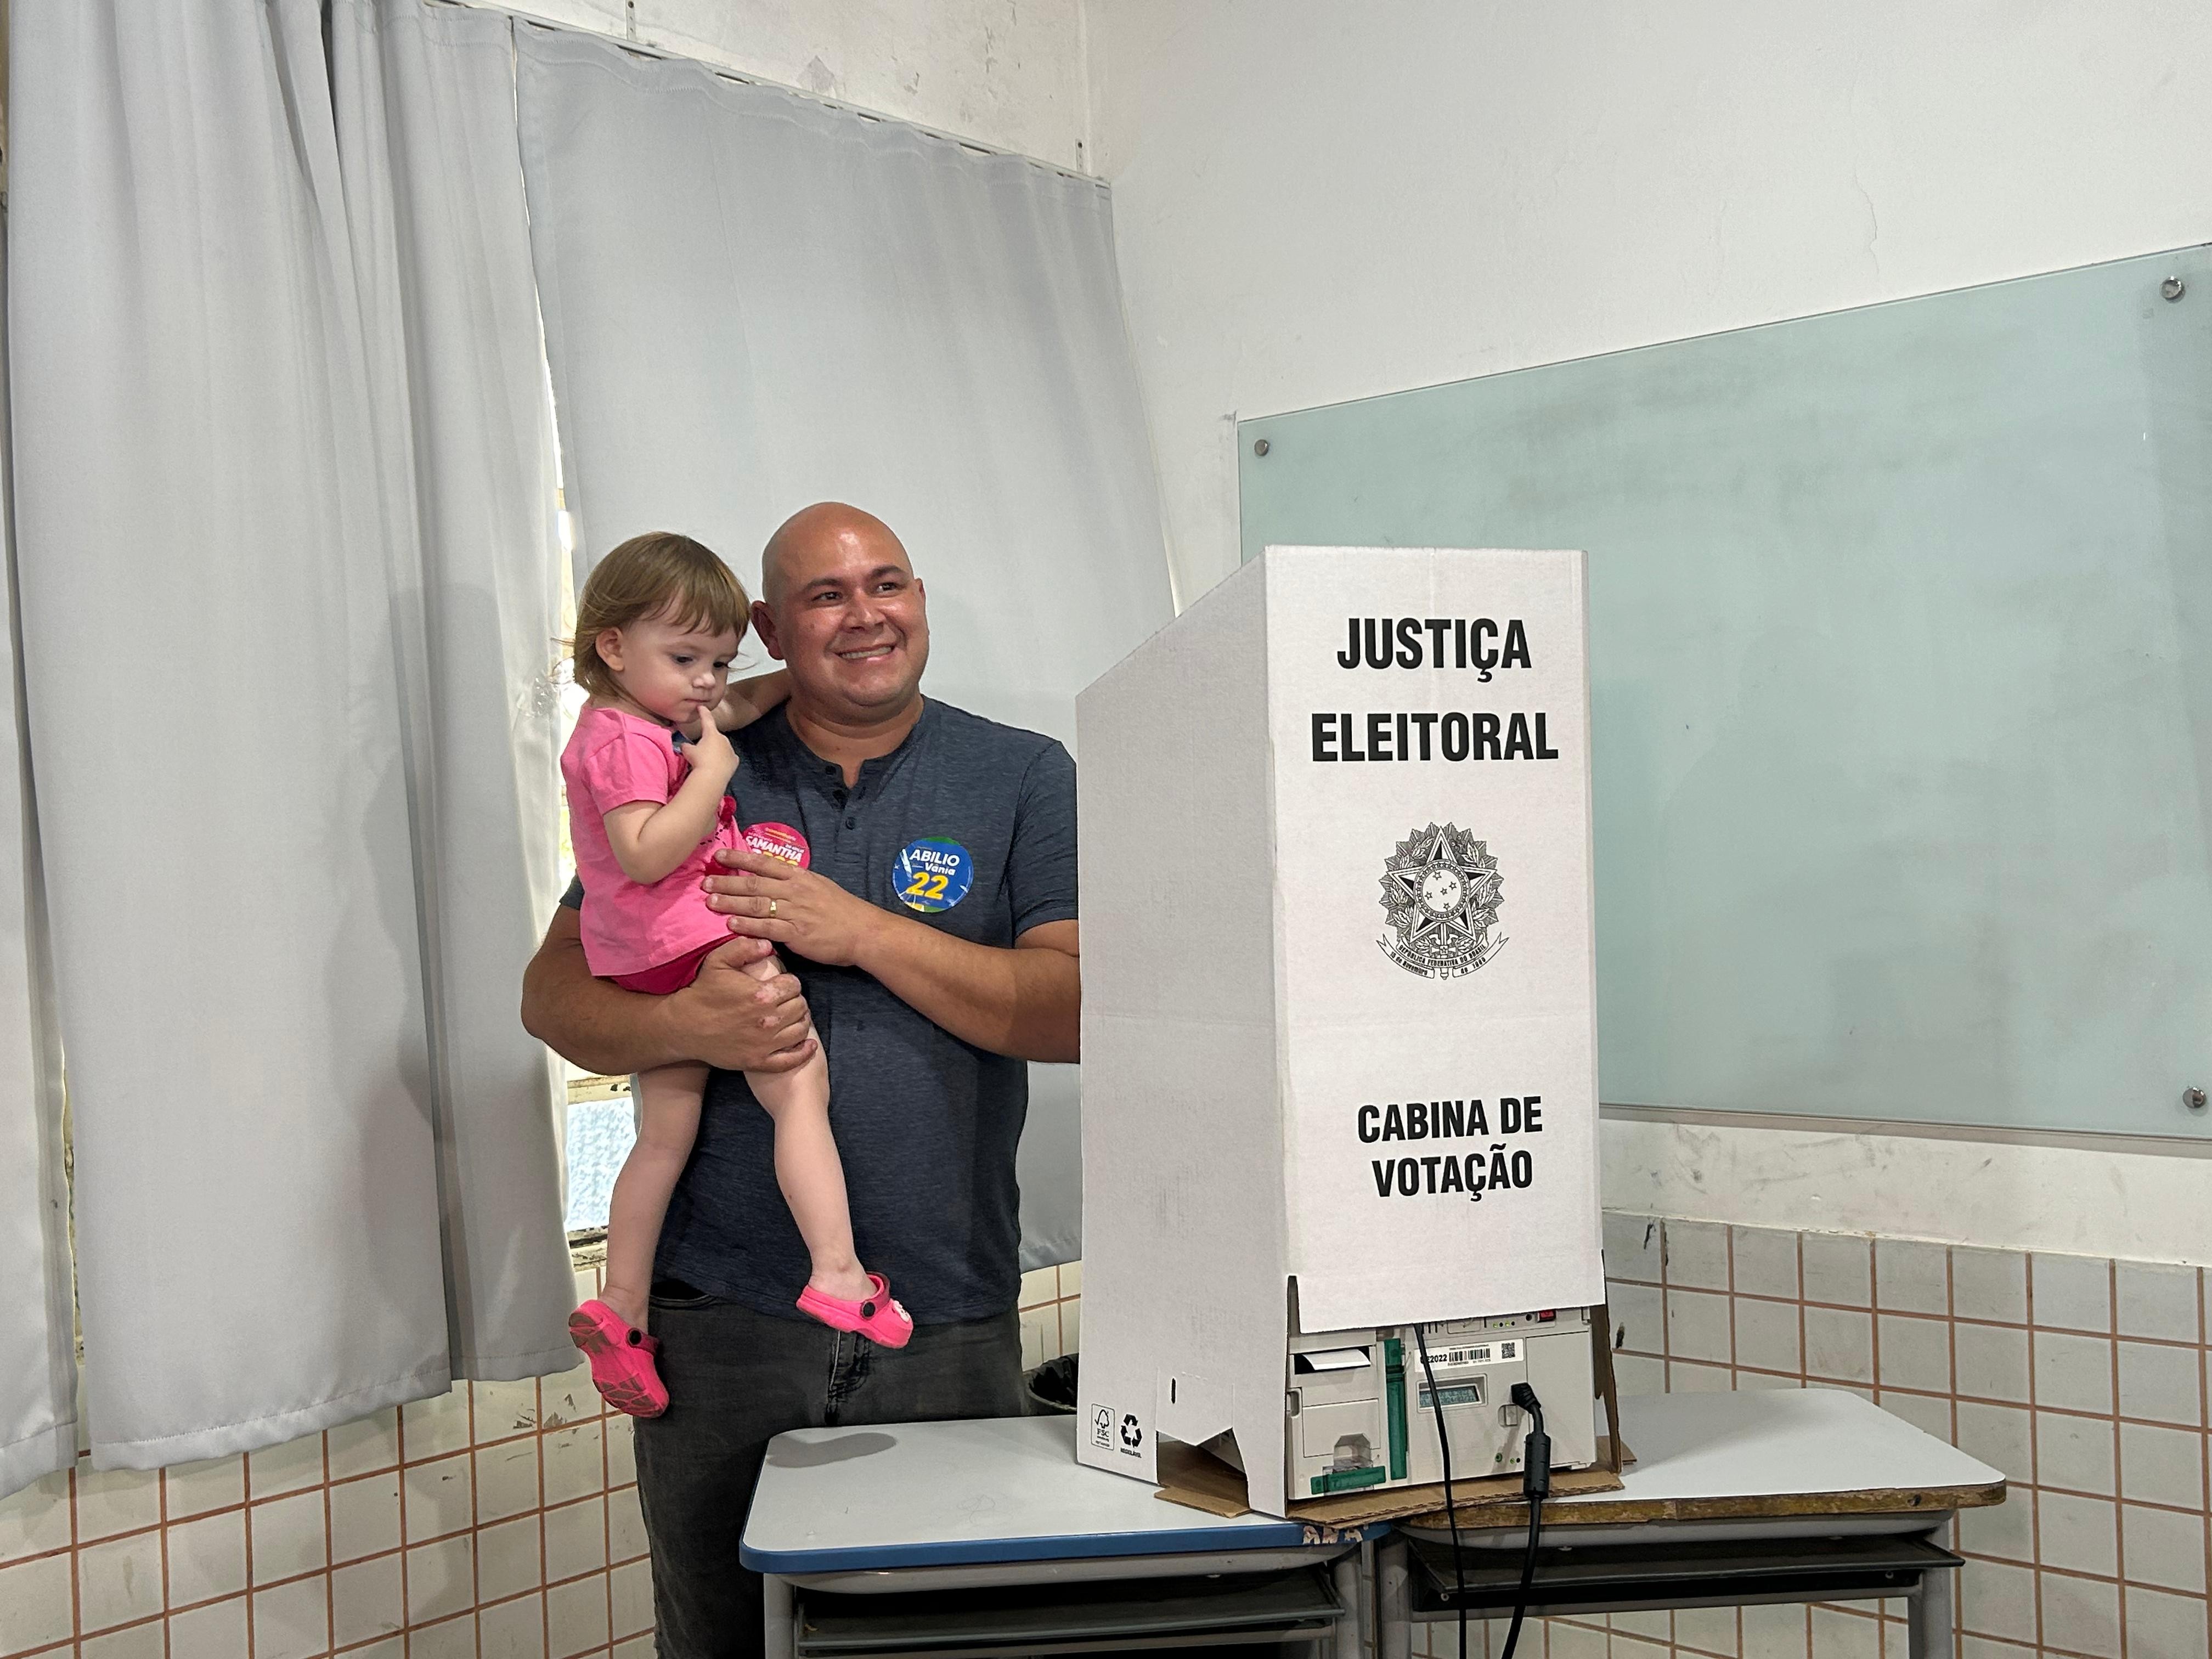
[[[1329,1553],[1356,1535],[1338,1531]],[[1084,1469],[1075,1418],[989,1418],[779,1433],[739,1555],[757,1573],[843,1573],[1318,1542],[1298,1522],[1223,1520]]]

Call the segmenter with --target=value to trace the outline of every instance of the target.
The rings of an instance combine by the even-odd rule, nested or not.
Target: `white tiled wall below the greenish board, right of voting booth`
[[[1845,1387],[2006,1473],[2004,1506],[1960,1517],[1962,1659],[2212,1652],[2197,1270],[1626,1214],[1606,1217],[1606,1270],[1624,1391]],[[1902,1617],[1551,1621],[1520,1655],[1900,1659]],[[1455,1652],[1449,1626],[1425,1641]]]

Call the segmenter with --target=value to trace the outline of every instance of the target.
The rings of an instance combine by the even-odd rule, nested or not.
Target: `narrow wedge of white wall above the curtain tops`
[[[1086,170],[1079,0],[522,0],[500,9]]]

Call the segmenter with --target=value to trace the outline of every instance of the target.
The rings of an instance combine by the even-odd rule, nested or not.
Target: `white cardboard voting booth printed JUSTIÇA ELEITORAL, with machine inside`
[[[1584,555],[1272,546],[1077,699],[1086,1464],[1599,1460]],[[1599,1336],[1601,1352],[1601,1336]]]

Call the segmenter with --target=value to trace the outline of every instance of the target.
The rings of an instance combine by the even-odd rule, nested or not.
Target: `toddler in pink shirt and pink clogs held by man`
[[[741,845],[726,794],[737,750],[723,730],[783,699],[783,677],[728,686],[745,633],[745,588],[688,535],[635,535],[593,568],[577,599],[575,677],[591,701],[562,752],[568,834],[584,878],[584,960],[628,991],[668,995],[730,945],[708,909],[714,852]],[[681,743],[677,737],[681,734]],[[770,980],[770,956],[743,969]],[[812,1033],[810,1033],[812,1035]],[[568,1316],[608,1405],[653,1418],[668,1389],[646,1336],[653,1252],[661,1217],[699,1130],[703,1064],[657,1066],[637,1079],[637,1146],[615,1177],[606,1217],[606,1290]],[[776,1186],[814,1259],[799,1296],[805,1314],[885,1347],[914,1334],[907,1310],[854,1259],[845,1170],[830,1135],[830,1066],[816,1044],[799,1071],[748,1073],[776,1119]]]

